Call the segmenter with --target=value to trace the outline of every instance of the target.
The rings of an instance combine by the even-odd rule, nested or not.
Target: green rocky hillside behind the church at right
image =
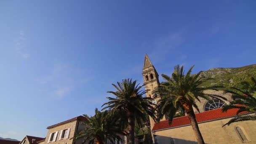
[[[213,78],[204,82],[204,86],[222,85],[225,87],[239,87],[240,83],[256,77],[256,64],[237,68],[212,68],[201,73],[201,76]]]

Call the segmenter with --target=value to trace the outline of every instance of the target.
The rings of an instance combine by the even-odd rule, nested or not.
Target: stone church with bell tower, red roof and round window
[[[145,89],[149,89],[146,96],[152,98],[152,90],[160,85],[159,75],[154,65],[146,54],[142,70]],[[256,144],[256,121],[243,121],[224,126],[232,117],[236,116],[238,109],[222,112],[222,107],[231,101],[230,94],[222,91],[205,91],[205,93],[218,94],[226,97],[228,101],[202,99],[197,101],[200,112],[195,109],[196,120],[206,144]],[[161,99],[155,98],[155,103]],[[242,112],[240,115],[250,115]],[[196,139],[187,116],[176,117],[169,124],[165,117],[159,122],[149,117],[151,133],[155,144],[196,144]]]

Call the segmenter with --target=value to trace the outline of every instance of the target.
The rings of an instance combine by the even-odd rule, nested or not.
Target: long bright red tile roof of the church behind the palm
[[[232,117],[237,115],[238,109],[229,109],[227,112],[222,112],[222,109],[213,109],[206,112],[201,112],[195,114],[197,123],[203,123],[209,120],[218,120],[226,117]],[[240,112],[239,115],[245,114],[248,112]],[[176,128],[184,125],[190,125],[190,121],[188,116],[176,117],[173,118],[171,125],[169,125],[168,120],[160,121],[159,123],[155,123],[152,131],[159,131],[166,128]]]

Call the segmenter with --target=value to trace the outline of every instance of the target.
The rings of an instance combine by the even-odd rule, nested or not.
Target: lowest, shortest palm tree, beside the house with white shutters
[[[82,139],[83,144],[88,141],[89,144],[115,144],[115,140],[122,140],[120,134],[123,131],[120,129],[120,125],[112,121],[113,117],[107,116],[107,111],[100,112],[95,109],[95,115],[89,117],[83,115],[88,121],[83,122],[86,128],[80,130],[74,137],[75,140]]]

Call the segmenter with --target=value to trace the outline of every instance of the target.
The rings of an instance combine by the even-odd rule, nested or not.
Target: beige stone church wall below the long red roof
[[[239,126],[248,143],[256,144],[256,121],[243,121],[224,126],[231,118],[200,123],[199,128],[205,144],[242,144],[241,136],[236,130]],[[155,144],[195,144],[196,139],[191,125],[154,133]],[[246,143],[246,142],[245,142]]]

